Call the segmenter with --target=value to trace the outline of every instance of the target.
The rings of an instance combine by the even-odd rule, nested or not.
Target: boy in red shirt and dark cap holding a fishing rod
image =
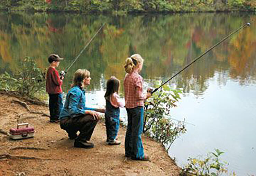
[[[48,57],[50,66],[46,74],[46,92],[49,94],[50,122],[52,123],[59,121],[60,112],[63,108],[61,85],[64,76],[59,76],[59,72],[56,70],[60,60],[63,58],[56,54],[51,54]]]

